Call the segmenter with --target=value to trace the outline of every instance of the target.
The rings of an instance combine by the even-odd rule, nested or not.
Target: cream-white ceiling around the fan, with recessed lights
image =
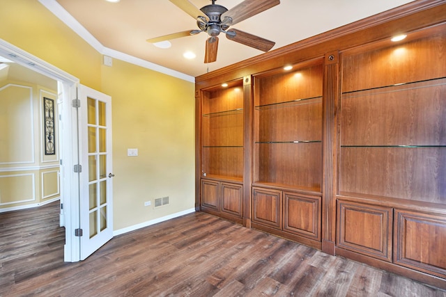
[[[187,1],[187,0],[185,0]],[[169,0],[40,0],[61,6],[100,42],[114,51],[176,70],[191,77],[220,69],[262,54],[258,49],[240,45],[220,34],[217,61],[205,64],[206,33],[171,40],[171,48],[159,49],[148,38],[197,29],[196,21]],[[209,0],[190,0],[197,8]],[[231,9],[242,0],[218,0],[216,4]],[[408,3],[408,0],[282,0],[278,6],[245,19],[233,26],[247,33],[276,42],[284,47],[313,35],[376,15]],[[60,5],[59,5],[60,4]],[[62,14],[58,15],[61,19]],[[65,16],[66,18],[66,16]],[[183,58],[193,51],[197,58]]]

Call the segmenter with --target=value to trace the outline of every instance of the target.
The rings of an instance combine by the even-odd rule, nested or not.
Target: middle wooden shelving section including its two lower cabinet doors
[[[321,248],[322,88],[322,59],[254,76],[252,226],[315,248]]]

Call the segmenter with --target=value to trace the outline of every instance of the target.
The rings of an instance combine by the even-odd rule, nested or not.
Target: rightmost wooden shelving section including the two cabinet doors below
[[[344,53],[337,254],[446,278],[437,247],[446,242],[446,31],[439,29]]]

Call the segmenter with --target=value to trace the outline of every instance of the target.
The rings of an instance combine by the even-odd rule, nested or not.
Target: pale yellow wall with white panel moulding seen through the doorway
[[[59,199],[59,154],[43,150],[43,97],[56,90],[24,81],[0,81],[0,211]],[[54,123],[57,141],[58,122]]]

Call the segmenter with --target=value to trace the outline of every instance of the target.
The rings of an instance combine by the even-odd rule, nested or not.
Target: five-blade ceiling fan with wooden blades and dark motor
[[[237,29],[229,29],[229,26],[242,22],[248,17],[252,17],[264,10],[272,8],[280,3],[280,0],[245,0],[242,3],[234,6],[230,10],[224,6],[215,4],[216,0],[211,0],[212,4],[197,8],[188,0],[169,0],[178,8],[185,11],[188,15],[197,19],[197,26],[199,29],[182,31],[169,35],[160,36],[157,38],[148,39],[148,42],[156,43],[165,40],[172,40],[175,38],[195,35],[201,32],[206,32],[210,36],[206,40],[206,52],[204,56],[204,63],[212,63],[217,61],[217,47],[218,35],[225,33],[229,40],[254,47],[261,51],[269,51],[274,47],[275,42],[260,38]]]

